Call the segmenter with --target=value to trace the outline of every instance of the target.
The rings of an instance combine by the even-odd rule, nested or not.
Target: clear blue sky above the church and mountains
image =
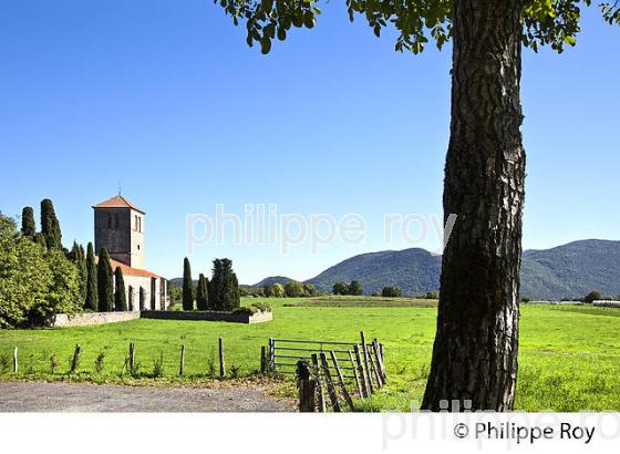
[[[306,279],[386,243],[384,214],[441,215],[450,47],[393,51],[341,1],[267,56],[210,0],[0,3],[0,210],[54,200],[65,244],[93,237],[91,205],[123,194],[147,211],[147,266],[182,274],[186,215],[215,205],[364,217],[361,244],[220,245],[242,282]],[[585,11],[578,47],[525,52],[526,248],[620,239],[620,32]],[[414,246],[435,248],[431,236]]]

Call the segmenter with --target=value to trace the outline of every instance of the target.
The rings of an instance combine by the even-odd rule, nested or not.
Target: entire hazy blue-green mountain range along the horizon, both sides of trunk
[[[422,295],[440,287],[441,257],[424,249],[386,250],[349,258],[321,272],[308,283],[331,291],[343,280],[359,280],[366,295],[397,286],[405,295]],[[286,283],[268,278],[265,283]],[[521,266],[521,296],[534,300],[581,298],[590,290],[620,295],[620,241],[589,239],[545,250],[526,250]]]

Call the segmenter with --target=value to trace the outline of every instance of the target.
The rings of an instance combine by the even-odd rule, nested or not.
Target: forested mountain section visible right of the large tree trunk
[[[533,299],[583,297],[590,290],[620,295],[620,241],[587,239],[552,249],[526,250],[521,295]]]

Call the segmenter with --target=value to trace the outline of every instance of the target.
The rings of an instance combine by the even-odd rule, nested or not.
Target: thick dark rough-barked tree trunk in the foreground
[[[517,379],[525,151],[523,0],[454,0],[437,334],[422,407],[509,411]],[[444,402],[442,402],[444,401]]]

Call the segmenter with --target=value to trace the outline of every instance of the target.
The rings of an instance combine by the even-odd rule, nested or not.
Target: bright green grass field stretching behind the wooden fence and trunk
[[[217,339],[224,337],[229,372],[235,369],[246,376],[259,369],[260,347],[270,337],[356,342],[360,330],[364,330],[385,344],[389,384],[360,403],[360,409],[407,411],[412,401],[421,400],[435,331],[436,308],[432,302],[399,299],[373,305],[368,298],[269,302],[275,320],[255,326],[134,320],[89,328],[1,331],[0,373],[4,379],[12,376],[12,350],[18,345],[20,378],[65,380],[69,359],[80,343],[84,352],[76,380],[131,383],[133,379],[121,379],[120,373],[128,342],[133,341],[145,374],[153,372],[154,361],[163,352],[164,378],[153,382],[204,381],[209,369],[217,368]],[[520,332],[518,410],[620,411],[620,310],[525,306]],[[180,344],[187,349],[187,375],[183,379],[176,376]],[[104,368],[97,373],[100,352],[105,353]],[[59,363],[53,375],[51,355]]]

